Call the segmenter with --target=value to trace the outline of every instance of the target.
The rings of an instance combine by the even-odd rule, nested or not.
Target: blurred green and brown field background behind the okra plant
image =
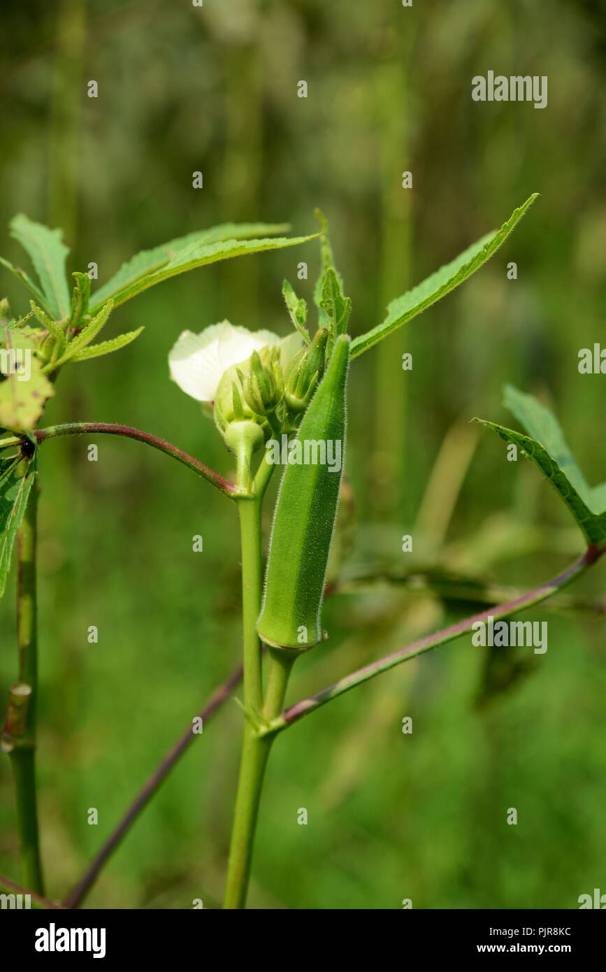
[[[320,206],[359,333],[541,192],[477,276],[354,364],[355,523],[340,547],[350,582],[326,603],[329,641],[298,663],[291,701],[470,613],[478,585],[534,586],[582,550],[538,471],[507,463],[500,440],[467,423],[511,424],[501,405],[511,381],[555,407],[589,481],[604,478],[606,379],[577,370],[579,350],[604,333],[603,26],[599,0],[3,6],[0,226],[17,211],[62,226],[70,268],[94,260],[100,283],[137,250],[223,221],[314,231]],[[548,107],[472,101],[472,77],[489,69],[548,75]],[[194,170],[203,190],[191,187]],[[401,188],[404,170],[412,190]],[[8,231],[0,251],[24,260]],[[308,281],[296,280],[300,260]],[[124,423],[228,472],[212,424],[168,380],[168,350],[181,330],[223,318],[286,333],[282,280],[311,300],[318,267],[310,243],[196,270],[128,302],[106,336],[145,325],[143,335],[68,368],[43,425]],[[25,312],[5,271],[0,291]],[[75,884],[240,651],[235,509],[138,443],[99,437],[89,463],[87,441],[41,454],[39,781],[51,897]],[[194,534],[203,553],[191,551]],[[352,580],[377,569],[426,583]],[[250,906],[575,908],[580,894],[606,890],[605,649],[592,603],[603,577],[598,565],[573,602],[531,612],[549,621],[545,655],[487,657],[464,638],[282,736]],[[0,606],[3,698],[16,673],[14,590],[13,579]],[[98,644],[86,641],[93,624]],[[412,736],[401,732],[406,715]],[[228,702],[90,907],[219,906],[240,731]],[[517,826],[506,823],[510,807]],[[18,880],[6,759],[0,871]]]

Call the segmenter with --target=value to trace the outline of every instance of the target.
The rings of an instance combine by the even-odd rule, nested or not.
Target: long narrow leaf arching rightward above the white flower
[[[183,253],[196,244],[210,245],[221,240],[242,240],[250,239],[253,236],[271,236],[272,233],[284,232],[288,228],[287,224],[272,223],[223,223],[220,226],[211,226],[208,229],[199,229],[177,239],[162,243],[152,250],[142,250],[131,260],[122,263],[118,273],[114,274],[111,280],[92,295],[91,309],[99,307],[109,297],[115,297],[115,304],[123,303],[118,300],[118,295],[129,292],[137,282],[144,277],[149,277],[156,273],[161,267],[165,266],[177,254]],[[151,284],[148,286],[152,286]],[[145,288],[141,288],[145,290]],[[139,291],[135,291],[139,293]],[[128,296],[124,297],[127,300]]]

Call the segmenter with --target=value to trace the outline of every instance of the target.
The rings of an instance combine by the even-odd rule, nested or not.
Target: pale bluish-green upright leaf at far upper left
[[[70,308],[65,276],[69,247],[63,243],[61,230],[34,223],[22,213],[18,213],[9,226],[11,236],[18,240],[34,264],[50,314],[55,318],[65,317]]]

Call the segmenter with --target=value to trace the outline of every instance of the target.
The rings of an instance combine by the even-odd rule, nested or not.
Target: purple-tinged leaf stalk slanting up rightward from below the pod
[[[513,601],[496,605],[493,608],[488,608],[487,610],[482,611],[480,614],[474,614],[471,617],[464,618],[464,620],[458,621],[456,624],[453,624],[448,628],[443,628],[441,631],[437,631],[433,635],[427,635],[426,638],[421,638],[418,642],[408,644],[399,651],[394,651],[393,654],[387,655],[386,658],[381,658],[379,661],[373,662],[371,665],[366,665],[364,668],[358,669],[357,672],[353,672],[352,675],[341,678],[333,685],[329,685],[320,692],[316,692],[314,695],[310,695],[307,699],[302,699],[300,702],[290,706],[279,718],[273,720],[272,725],[268,729],[260,730],[259,735],[261,738],[267,738],[268,735],[281,732],[283,729],[286,729],[286,726],[296,722],[309,712],[315,712],[326,702],[331,702],[333,699],[343,695],[344,692],[349,692],[350,689],[354,688],[356,685],[360,685],[362,682],[368,681],[370,678],[381,675],[382,672],[387,672],[396,665],[400,665],[402,662],[408,661],[409,658],[415,658],[417,655],[421,655],[425,651],[430,651],[431,648],[435,648],[439,644],[452,642],[460,635],[470,632],[473,625],[478,621],[483,621],[486,623],[488,621],[488,617],[498,620],[500,618],[507,617],[509,614],[514,614],[523,608],[531,608],[533,605],[537,605],[541,601],[545,601],[547,598],[555,594],[556,591],[566,587],[573,580],[580,577],[581,574],[585,573],[588,568],[594,564],[599,557],[601,557],[603,553],[604,549],[598,549],[595,546],[590,546],[588,550],[586,550],[583,557],[573,564],[572,567],[569,567],[566,571],[559,573],[556,577],[554,577],[553,580],[549,580],[546,584],[542,584],[540,587],[537,587],[532,591],[528,591],[527,594],[523,594],[521,597],[518,597]]]

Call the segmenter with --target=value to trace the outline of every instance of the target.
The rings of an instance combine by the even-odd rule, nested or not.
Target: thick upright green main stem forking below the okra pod
[[[261,711],[263,705],[261,645],[256,634],[256,619],[261,600],[261,503],[260,496],[255,497],[254,500],[238,501],[242,536],[244,702],[245,706],[252,707],[257,712]],[[292,660],[287,659],[282,663],[272,657],[264,711],[267,717],[274,718],[282,711]],[[253,725],[247,718],[244,726],[238,794],[223,902],[223,908],[226,909],[246,906],[253,862],[254,831],[271,743],[271,737],[258,739]]]

